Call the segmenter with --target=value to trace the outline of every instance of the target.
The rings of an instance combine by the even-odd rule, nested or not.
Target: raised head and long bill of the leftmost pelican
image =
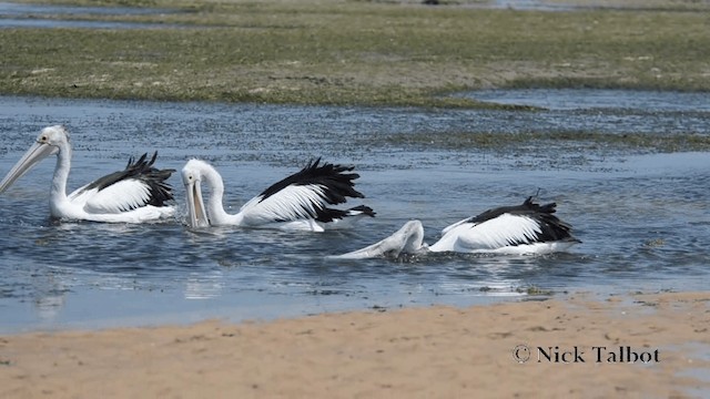
[[[62,125],[54,125],[42,129],[37,137],[37,142],[22,155],[20,161],[12,166],[10,172],[0,182],[0,193],[3,193],[18,178],[22,177],[32,166],[43,158],[54,155],[61,149],[69,145],[69,132]]]

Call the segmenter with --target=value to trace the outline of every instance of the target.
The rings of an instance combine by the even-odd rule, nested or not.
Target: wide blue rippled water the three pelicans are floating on
[[[627,94],[655,95],[619,98]],[[541,98],[549,101],[549,95]],[[707,289],[708,153],[608,145],[579,152],[549,142],[452,150],[390,140],[569,129],[571,123],[579,132],[708,135],[707,100],[653,111],[610,103],[599,113],[591,106],[426,111],[0,98],[1,175],[41,127],[63,123],[74,145],[70,188],[123,167],[131,155],[159,150],[160,167],[180,170],[190,157],[212,162],[226,182],[225,203],[236,212],[270,184],[322,156],[355,165],[357,187],[367,197],[352,204],[377,212],[354,231],[327,234],[191,232],[181,221],[52,223],[47,202],[54,163],[47,160],[0,196],[0,332],[465,306],[525,298],[530,287],[599,295]],[[645,123],[637,125],[639,119]],[[182,209],[179,175],[170,183]],[[324,259],[372,244],[410,218],[423,221],[426,241],[433,243],[446,225],[521,203],[538,190],[540,201],[558,203],[558,215],[582,241],[569,253]]]

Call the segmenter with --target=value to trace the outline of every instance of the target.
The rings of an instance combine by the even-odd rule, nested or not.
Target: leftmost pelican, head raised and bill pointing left
[[[69,132],[62,125],[42,129],[37,142],[12,166],[0,182],[0,194],[32,166],[50,155],[57,155],[57,166],[50,190],[50,214],[54,218],[105,223],[143,223],[171,216],[173,198],[165,180],[174,170],[153,167],[158,153],[146,161],[131,157],[124,171],[105,175],[67,195],[71,167]]]

